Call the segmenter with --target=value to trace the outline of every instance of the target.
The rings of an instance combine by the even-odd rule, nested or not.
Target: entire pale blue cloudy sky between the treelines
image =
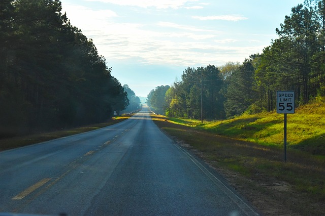
[[[187,67],[240,62],[276,39],[303,0],[61,0],[112,75],[146,97]]]

